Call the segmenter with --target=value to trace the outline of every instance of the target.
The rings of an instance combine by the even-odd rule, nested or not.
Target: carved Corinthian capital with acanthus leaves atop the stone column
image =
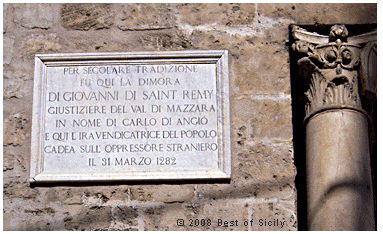
[[[308,82],[306,117],[331,108],[361,109],[360,95],[376,94],[376,31],[349,37],[344,25],[334,25],[324,36],[294,26],[292,35],[298,73]]]

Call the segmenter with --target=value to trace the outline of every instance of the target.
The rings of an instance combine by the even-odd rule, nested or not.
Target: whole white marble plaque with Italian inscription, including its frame
[[[30,182],[229,179],[227,58],[36,55]]]

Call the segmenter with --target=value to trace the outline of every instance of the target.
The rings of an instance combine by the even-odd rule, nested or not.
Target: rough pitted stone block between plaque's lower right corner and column
[[[295,199],[296,175],[291,146],[258,143],[247,152],[238,153],[235,184],[243,194],[256,198]]]

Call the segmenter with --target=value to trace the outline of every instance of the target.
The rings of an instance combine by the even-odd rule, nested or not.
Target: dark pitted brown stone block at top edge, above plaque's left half
[[[63,4],[60,12],[63,27],[73,30],[110,28],[114,23],[111,4]]]

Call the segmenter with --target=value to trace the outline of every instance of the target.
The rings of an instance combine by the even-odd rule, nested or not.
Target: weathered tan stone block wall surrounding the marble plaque
[[[4,4],[4,230],[297,230],[289,26],[376,23],[376,4]],[[230,182],[30,186],[36,53],[214,49],[229,51]]]

